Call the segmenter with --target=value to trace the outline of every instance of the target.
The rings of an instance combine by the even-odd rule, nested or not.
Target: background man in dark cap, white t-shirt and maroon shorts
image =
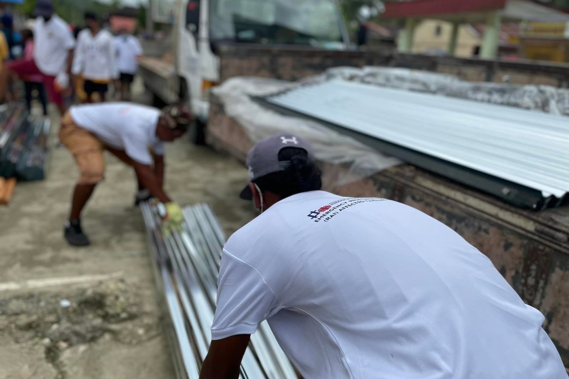
[[[73,61],[75,39],[69,25],[53,13],[52,0],[37,0],[35,14],[34,59],[9,62],[0,72],[0,103],[6,100],[6,88],[10,78],[41,75],[48,98],[63,115],[65,106],[62,92],[69,86],[69,73]]]

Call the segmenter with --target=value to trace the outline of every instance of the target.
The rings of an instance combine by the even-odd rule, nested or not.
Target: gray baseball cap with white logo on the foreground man
[[[279,161],[279,153],[287,147],[304,149],[308,154],[308,159],[314,159],[312,146],[300,137],[291,134],[279,134],[263,139],[254,145],[247,155],[246,165],[249,169],[249,182],[285,170],[290,165],[290,161]],[[240,197],[245,200],[253,199],[249,186],[241,191]]]

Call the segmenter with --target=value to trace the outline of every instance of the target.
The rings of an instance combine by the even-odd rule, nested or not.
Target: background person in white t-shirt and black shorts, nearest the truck
[[[121,100],[130,99],[131,85],[138,71],[138,58],[142,55],[142,46],[138,38],[129,34],[127,30],[119,31],[114,38],[117,51],[117,70],[120,73],[119,90]]]

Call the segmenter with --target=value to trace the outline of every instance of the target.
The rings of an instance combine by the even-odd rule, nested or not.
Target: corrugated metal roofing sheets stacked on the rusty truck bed
[[[567,200],[564,116],[340,80],[262,101],[519,207]]]

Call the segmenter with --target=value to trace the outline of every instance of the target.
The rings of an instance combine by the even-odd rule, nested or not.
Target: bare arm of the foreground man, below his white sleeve
[[[212,341],[200,379],[237,379],[250,338],[249,334],[241,334]]]

